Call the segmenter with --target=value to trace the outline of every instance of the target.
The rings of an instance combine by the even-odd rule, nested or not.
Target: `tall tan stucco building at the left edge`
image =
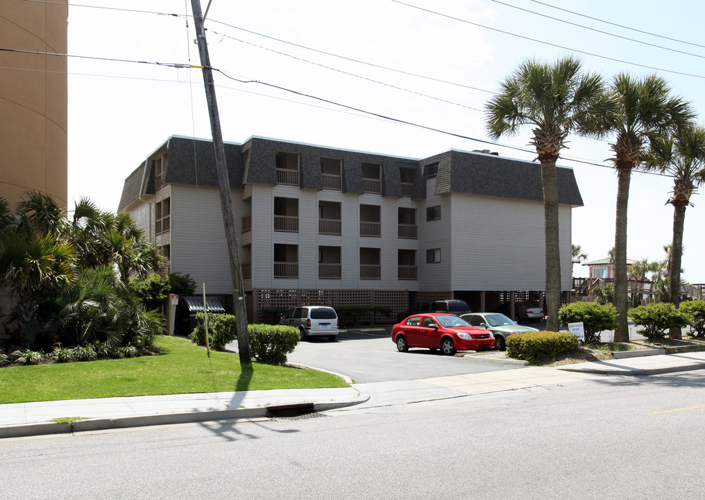
[[[66,54],[67,0],[0,1],[0,48]],[[0,196],[26,190],[66,208],[66,57],[0,51]]]

